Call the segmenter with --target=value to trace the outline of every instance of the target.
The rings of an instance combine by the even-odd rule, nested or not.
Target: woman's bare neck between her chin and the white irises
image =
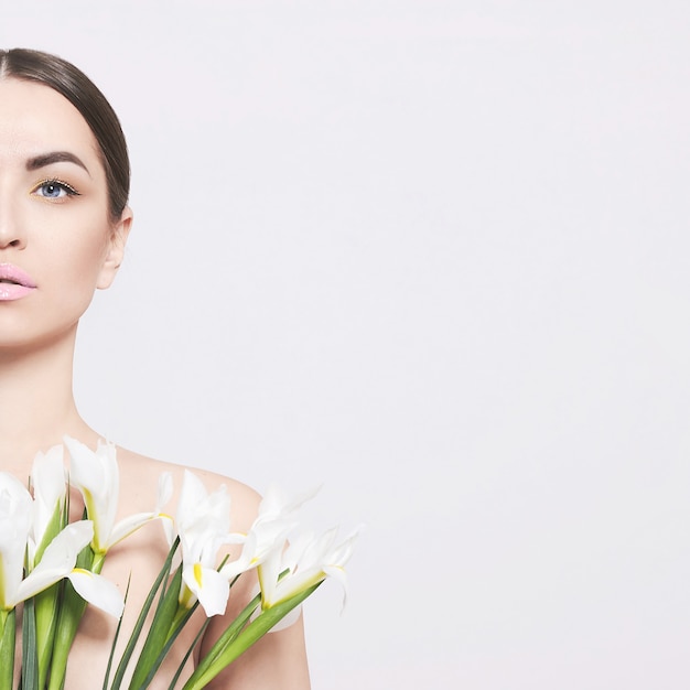
[[[0,470],[18,476],[34,455],[64,434],[90,443],[72,391],[76,328],[58,343],[32,351],[0,351]]]

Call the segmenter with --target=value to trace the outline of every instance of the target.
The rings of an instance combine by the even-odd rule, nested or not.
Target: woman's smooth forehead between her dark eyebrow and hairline
[[[89,126],[64,96],[43,84],[0,78],[0,159],[54,150],[98,160]]]

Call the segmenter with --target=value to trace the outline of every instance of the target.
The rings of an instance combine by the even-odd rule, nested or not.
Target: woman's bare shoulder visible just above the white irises
[[[117,457],[120,466],[122,499],[127,503],[136,502],[137,504],[150,505],[151,497],[155,496],[159,477],[168,472],[173,478],[174,506],[182,486],[184,471],[188,470],[202,479],[209,493],[225,487],[224,490],[230,497],[233,531],[247,531],[257,516],[261,503],[260,494],[238,479],[208,470],[185,467],[177,463],[154,460],[119,446]],[[141,507],[139,509],[150,508]]]

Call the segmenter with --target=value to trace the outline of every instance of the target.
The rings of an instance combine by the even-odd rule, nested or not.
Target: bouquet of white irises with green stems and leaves
[[[225,487],[208,494],[188,471],[184,473],[174,517],[164,513],[173,490],[172,477],[164,473],[159,479],[155,509],[116,524],[119,472],[115,445],[100,443],[94,452],[65,438],[65,446],[71,455],[68,476],[63,446],[39,453],[29,488],[14,476],[0,473],[3,690],[14,682],[18,605],[23,604],[21,690],[61,690],[86,605],[98,606],[116,617],[122,614],[125,599],[100,575],[108,550],[151,520],[162,522],[169,556],[121,657],[115,659],[118,626],[104,690],[122,688],[128,675],[128,688],[147,688],[192,613],[201,606],[206,623],[185,650],[170,683],[170,690],[174,690],[209,618],[225,612],[233,584],[251,569],[257,570],[260,591],[198,659],[183,690],[204,688],[265,634],[291,625],[299,616],[300,604],[327,576],[336,578],[345,587],[343,568],[352,554],[356,531],[342,542],[336,541],[337,530],[316,538],[293,537],[298,510],[315,492],[289,499],[278,489],[269,489],[251,529],[240,535],[230,532],[230,498]],[[82,520],[68,519],[68,486],[76,487],[84,498]],[[218,562],[222,549],[229,543],[241,545],[238,558]],[[140,639],[145,642],[137,646]]]

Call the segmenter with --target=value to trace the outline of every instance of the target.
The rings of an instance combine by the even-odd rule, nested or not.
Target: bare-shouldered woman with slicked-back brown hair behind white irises
[[[69,63],[24,50],[0,52],[0,467],[25,481],[37,451],[65,434],[95,448],[99,434],[77,412],[72,391],[79,317],[94,290],[108,288],[132,224],[127,206],[129,161],[109,104]],[[150,510],[161,472],[180,486],[182,467],[118,449],[121,517]],[[246,531],[258,496],[247,486],[198,473],[209,490],[226,484],[233,529]],[[73,497],[73,500],[77,500]],[[80,513],[79,506],[75,511]],[[122,639],[131,630],[166,554],[151,524],[115,547],[104,574],[131,587]],[[202,651],[247,602],[255,583],[242,575],[225,616],[204,634]],[[201,625],[201,617],[196,626]],[[116,622],[89,607],[69,657],[66,688],[99,687]],[[195,629],[184,633],[190,643]],[[168,688],[184,653],[171,653],[158,684]],[[185,677],[193,664],[188,662]],[[96,684],[94,684],[96,683]],[[301,622],[262,638],[209,688],[309,688]]]

